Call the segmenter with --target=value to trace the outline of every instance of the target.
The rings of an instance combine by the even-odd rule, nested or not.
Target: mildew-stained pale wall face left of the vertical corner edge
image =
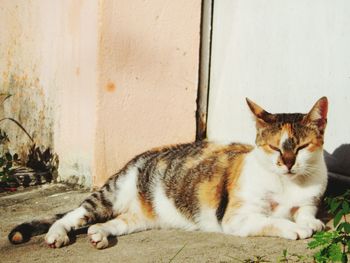
[[[59,155],[60,179],[91,185],[97,97],[98,2],[0,2],[4,116]],[[88,29],[88,30],[87,30]],[[7,123],[13,150],[29,141]]]

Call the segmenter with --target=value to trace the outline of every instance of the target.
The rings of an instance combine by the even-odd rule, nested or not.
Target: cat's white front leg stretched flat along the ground
[[[257,213],[235,215],[232,220],[223,222],[222,228],[224,233],[238,236],[275,236],[295,240],[312,235],[312,229],[309,227]]]

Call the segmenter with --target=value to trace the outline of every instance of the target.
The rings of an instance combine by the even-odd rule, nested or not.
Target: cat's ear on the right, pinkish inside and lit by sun
[[[328,99],[320,98],[305,116],[304,121],[316,124],[320,131],[324,131],[327,125]]]

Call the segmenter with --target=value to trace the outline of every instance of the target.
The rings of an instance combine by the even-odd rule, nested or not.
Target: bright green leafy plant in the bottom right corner
[[[350,190],[337,197],[325,198],[329,213],[334,216],[334,231],[320,231],[308,243],[310,249],[319,250],[314,254],[316,262],[348,262],[350,253]],[[341,220],[343,219],[343,220]]]

